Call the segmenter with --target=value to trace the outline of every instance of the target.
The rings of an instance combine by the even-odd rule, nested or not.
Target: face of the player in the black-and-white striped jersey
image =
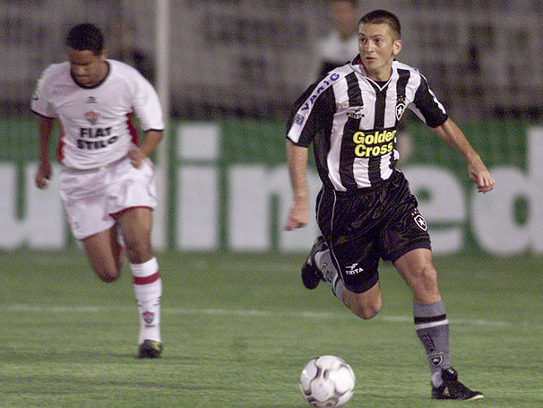
[[[358,48],[367,76],[375,81],[388,81],[394,56],[401,50],[401,39],[394,39],[388,24],[360,24]]]

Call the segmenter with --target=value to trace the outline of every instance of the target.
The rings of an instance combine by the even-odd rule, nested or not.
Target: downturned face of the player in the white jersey
[[[96,56],[87,49],[68,48],[68,57],[73,78],[83,86],[97,85],[108,74],[105,52]]]

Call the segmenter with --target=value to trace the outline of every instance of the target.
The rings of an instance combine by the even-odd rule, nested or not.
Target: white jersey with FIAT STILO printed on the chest
[[[39,79],[31,109],[60,120],[58,160],[73,169],[94,169],[124,157],[138,144],[132,114],[143,130],[163,130],[159,97],[133,67],[108,61],[98,85],[73,81],[70,63],[49,65]]]

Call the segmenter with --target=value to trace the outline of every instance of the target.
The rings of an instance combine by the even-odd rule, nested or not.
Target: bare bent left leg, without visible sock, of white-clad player
[[[116,227],[82,239],[92,269],[99,277],[112,282],[122,268],[122,248],[116,240]]]

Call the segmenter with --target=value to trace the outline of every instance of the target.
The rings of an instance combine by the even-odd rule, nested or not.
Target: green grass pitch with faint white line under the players
[[[299,281],[303,255],[162,254],[159,360],[135,358],[128,269],[106,284],[82,253],[0,253],[0,407],[304,408],[300,370],[347,360],[347,407],[543,406],[543,257],[435,259],[453,365],[486,398],[429,399],[409,291],[382,266],[384,308],[354,317]]]

